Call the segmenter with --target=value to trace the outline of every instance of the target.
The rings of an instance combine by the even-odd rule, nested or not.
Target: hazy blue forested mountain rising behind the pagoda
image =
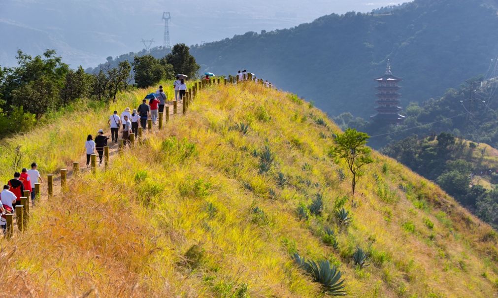
[[[368,118],[374,77],[387,59],[402,77],[402,105],[442,94],[486,72],[498,53],[495,0],[415,0],[387,13],[326,15],[271,32],[248,32],[192,48],[201,70],[257,77],[325,112]]]

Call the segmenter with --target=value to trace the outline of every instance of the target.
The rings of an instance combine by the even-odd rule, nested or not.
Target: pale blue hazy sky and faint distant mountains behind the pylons
[[[215,41],[247,31],[288,28],[333,12],[370,11],[405,1],[383,0],[0,0],[0,65],[17,49],[55,48],[72,67],[162,45],[162,11],[171,12],[172,44]]]

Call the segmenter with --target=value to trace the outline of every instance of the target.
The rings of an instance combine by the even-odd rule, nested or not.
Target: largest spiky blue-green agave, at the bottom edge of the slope
[[[344,279],[341,281],[342,273],[337,267],[331,266],[328,260],[321,260],[316,263],[313,260],[306,261],[295,253],[292,257],[299,268],[305,270],[312,278],[313,282],[320,283],[323,292],[331,296],[346,296],[344,290]]]

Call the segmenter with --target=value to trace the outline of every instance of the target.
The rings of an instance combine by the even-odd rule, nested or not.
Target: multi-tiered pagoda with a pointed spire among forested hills
[[[401,80],[401,78],[392,74],[391,64],[387,60],[387,69],[384,75],[375,79],[378,82],[376,87],[378,99],[375,101],[378,104],[378,107],[375,108],[378,113],[371,117],[373,121],[383,124],[400,124],[403,122],[405,116],[399,114],[403,109],[399,106],[401,94],[398,92],[400,89],[398,82]]]

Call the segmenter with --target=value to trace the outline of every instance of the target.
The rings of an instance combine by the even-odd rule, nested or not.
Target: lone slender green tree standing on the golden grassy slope
[[[351,188],[355,194],[356,183],[364,174],[362,168],[373,162],[370,155],[372,149],[367,147],[369,135],[358,132],[355,129],[347,129],[343,134],[337,135],[336,146],[330,149],[329,155],[334,158],[336,163],[344,160],[349,170],[353,174]]]

